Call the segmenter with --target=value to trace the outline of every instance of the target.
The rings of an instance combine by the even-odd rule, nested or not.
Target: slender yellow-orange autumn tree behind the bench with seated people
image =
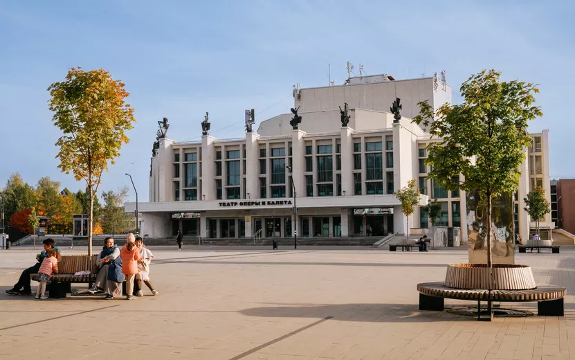
[[[128,143],[125,135],[134,127],[134,109],[125,102],[129,93],[125,84],[113,80],[103,69],[83,71],[71,68],[63,82],[48,87],[53,123],[63,135],[58,168],[77,181],[86,181],[89,205],[88,255],[92,254],[93,205],[109,163],[120,156],[120,147]]]

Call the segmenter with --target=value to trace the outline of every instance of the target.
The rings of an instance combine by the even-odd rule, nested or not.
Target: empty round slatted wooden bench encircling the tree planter
[[[538,285],[536,289],[528,290],[486,290],[486,289],[455,289],[447,287],[444,282],[423,282],[417,284],[419,291],[419,309],[443,311],[444,299],[477,301],[477,318],[481,302],[492,300],[498,302],[537,301],[540,316],[563,316],[563,298],[565,287],[555,285]]]

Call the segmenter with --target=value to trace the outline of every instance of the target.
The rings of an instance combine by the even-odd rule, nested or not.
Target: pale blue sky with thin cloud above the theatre
[[[544,116],[529,129],[549,129],[551,179],[575,178],[574,10],[571,1],[0,1],[0,188],[14,172],[85,188],[57,168],[61,133],[48,111],[46,89],[72,66],[110,71],[135,109],[99,195],[129,186],[134,200],[128,172],[147,201],[158,120],[169,119],[169,138],[196,140],[209,111],[210,135],[243,137],[244,109],[257,123],[283,114],[293,84],[327,86],[328,64],[343,84],[347,61],[398,80],[445,70],[454,103],[482,69],[539,84]]]

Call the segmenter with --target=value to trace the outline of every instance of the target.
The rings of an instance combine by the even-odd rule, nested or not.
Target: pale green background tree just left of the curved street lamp
[[[106,234],[129,233],[134,215],[126,213],[124,204],[128,196],[128,188],[120,188],[118,192],[109,190],[102,194],[104,207],[102,208],[102,231]]]

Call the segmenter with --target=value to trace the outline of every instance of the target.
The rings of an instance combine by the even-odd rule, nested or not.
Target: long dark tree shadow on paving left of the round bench
[[[417,304],[322,304],[253,307],[239,312],[264,318],[325,318],[336,321],[368,323],[429,323],[436,321],[473,321],[448,312],[421,311]]]

